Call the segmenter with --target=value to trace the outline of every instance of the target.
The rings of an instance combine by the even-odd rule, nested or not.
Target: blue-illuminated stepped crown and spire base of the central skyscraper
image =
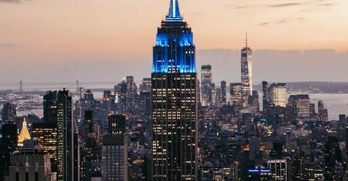
[[[180,15],[179,3],[171,0],[166,19],[157,29],[152,73],[196,73],[193,33]]]

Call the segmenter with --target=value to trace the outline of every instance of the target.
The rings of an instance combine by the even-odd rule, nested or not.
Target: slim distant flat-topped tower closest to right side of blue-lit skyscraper
[[[200,91],[202,96],[202,101],[200,103],[202,106],[208,106],[212,103],[212,65],[205,64],[201,67],[201,87]]]

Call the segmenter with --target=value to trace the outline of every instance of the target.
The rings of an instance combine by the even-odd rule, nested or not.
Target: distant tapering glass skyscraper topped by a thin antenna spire
[[[243,94],[248,96],[253,94],[253,51],[248,47],[248,38],[246,36],[245,47],[241,51],[241,81],[243,85]]]

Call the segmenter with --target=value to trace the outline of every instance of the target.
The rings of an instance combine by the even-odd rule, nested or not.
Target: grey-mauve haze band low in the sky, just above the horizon
[[[276,51],[256,50],[253,53],[254,84],[269,82],[330,81],[348,82],[348,52],[333,50]],[[30,64],[1,62],[0,83],[56,83],[80,80],[81,83],[114,82],[134,76],[137,83],[150,77],[151,59],[84,60]],[[198,50],[198,74],[202,64],[212,64],[213,80],[219,83],[240,82],[240,51],[231,49]],[[198,76],[200,77],[200,76]]]

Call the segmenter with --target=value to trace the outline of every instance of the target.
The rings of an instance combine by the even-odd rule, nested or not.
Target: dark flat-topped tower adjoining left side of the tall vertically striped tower
[[[47,122],[57,122],[57,92],[49,91],[44,96],[43,101],[44,120]]]

